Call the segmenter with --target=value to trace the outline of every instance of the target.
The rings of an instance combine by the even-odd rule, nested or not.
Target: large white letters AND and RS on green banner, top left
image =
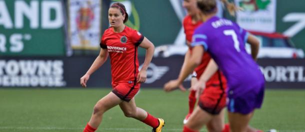
[[[13,7],[6,2],[12,1],[0,0],[0,28],[12,31],[0,32],[0,52],[21,52],[23,43],[34,37],[23,29],[57,29],[63,25],[60,0],[14,0]]]

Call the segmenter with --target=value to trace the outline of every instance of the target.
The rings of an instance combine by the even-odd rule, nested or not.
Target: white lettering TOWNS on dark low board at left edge
[[[0,60],[0,86],[65,86],[62,60]]]

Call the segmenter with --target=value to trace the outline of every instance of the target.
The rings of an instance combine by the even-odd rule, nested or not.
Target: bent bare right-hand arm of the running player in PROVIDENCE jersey
[[[151,41],[149,41],[146,37],[144,37],[144,39],[139,44],[139,46],[146,49],[143,66],[137,75],[137,82],[142,83],[145,82],[146,80],[146,70],[153,56],[154,45],[152,44]]]

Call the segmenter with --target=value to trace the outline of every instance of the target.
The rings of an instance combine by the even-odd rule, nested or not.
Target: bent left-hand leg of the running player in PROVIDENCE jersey
[[[100,100],[98,100],[93,108],[91,118],[83,131],[91,132],[97,129],[98,125],[101,122],[103,113],[121,102],[122,100],[117,97],[113,92],[108,93]]]

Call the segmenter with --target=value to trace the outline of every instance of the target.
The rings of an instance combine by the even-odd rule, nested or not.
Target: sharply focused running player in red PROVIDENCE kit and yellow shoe
[[[146,70],[151,61],[154,46],[141,33],[124,24],[128,19],[128,14],[123,4],[113,3],[108,10],[108,19],[111,26],[102,35],[99,55],[80,78],[80,84],[86,87],[90,74],[106,61],[109,54],[112,91],[97,101],[83,131],[95,131],[101,122],[103,113],[119,105],[126,117],[140,120],[150,125],[153,128],[152,131],[160,132],[164,120],[155,118],[145,110],[136,107],[134,101],[134,95],[139,90],[140,83],[146,79]],[[138,71],[137,59],[138,46],[146,49],[145,60],[140,71]]]

